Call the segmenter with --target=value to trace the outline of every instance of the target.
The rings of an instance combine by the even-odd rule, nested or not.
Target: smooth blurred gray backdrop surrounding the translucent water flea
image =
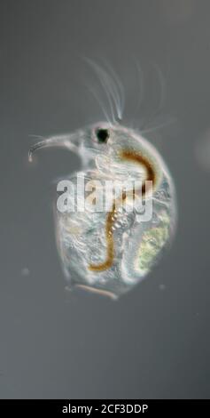
[[[209,397],[210,172],[195,152],[210,126],[209,16],[202,0],[1,1],[0,398]],[[122,77],[125,124],[157,108],[154,68],[166,81],[166,126],[147,136],[175,179],[177,234],[117,302],[65,290],[52,181],[78,159],[49,149],[27,164],[31,134],[103,118],[82,57],[105,59]],[[137,110],[136,60],[144,72]]]

